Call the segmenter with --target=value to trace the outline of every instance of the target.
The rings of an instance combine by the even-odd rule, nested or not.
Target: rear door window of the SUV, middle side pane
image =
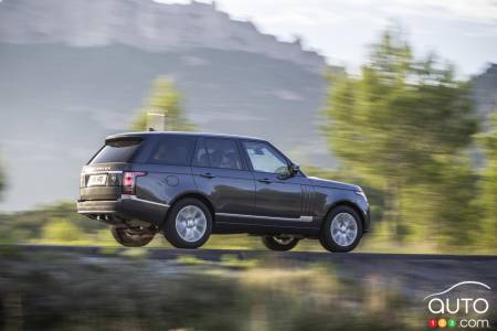
[[[211,167],[242,170],[242,159],[235,140],[208,138],[205,149]]]

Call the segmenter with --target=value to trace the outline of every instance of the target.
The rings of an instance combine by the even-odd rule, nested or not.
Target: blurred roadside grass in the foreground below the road
[[[0,259],[0,321],[10,330],[419,330],[395,280],[343,279],[330,264],[181,257]],[[234,268],[233,268],[234,267]],[[384,285],[387,284],[387,285]],[[414,314],[416,316],[416,314]],[[417,314],[420,316],[420,314]],[[422,324],[420,324],[420,323]],[[6,327],[7,324],[1,325]]]

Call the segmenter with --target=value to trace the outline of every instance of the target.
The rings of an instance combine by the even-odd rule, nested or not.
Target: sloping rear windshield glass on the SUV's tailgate
[[[107,141],[89,164],[107,162],[128,162],[141,145],[141,139],[120,139]]]

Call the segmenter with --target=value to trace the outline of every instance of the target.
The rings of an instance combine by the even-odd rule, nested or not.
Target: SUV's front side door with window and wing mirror
[[[307,178],[288,175],[289,161],[265,141],[244,140],[245,157],[255,180],[255,215],[302,221]]]

